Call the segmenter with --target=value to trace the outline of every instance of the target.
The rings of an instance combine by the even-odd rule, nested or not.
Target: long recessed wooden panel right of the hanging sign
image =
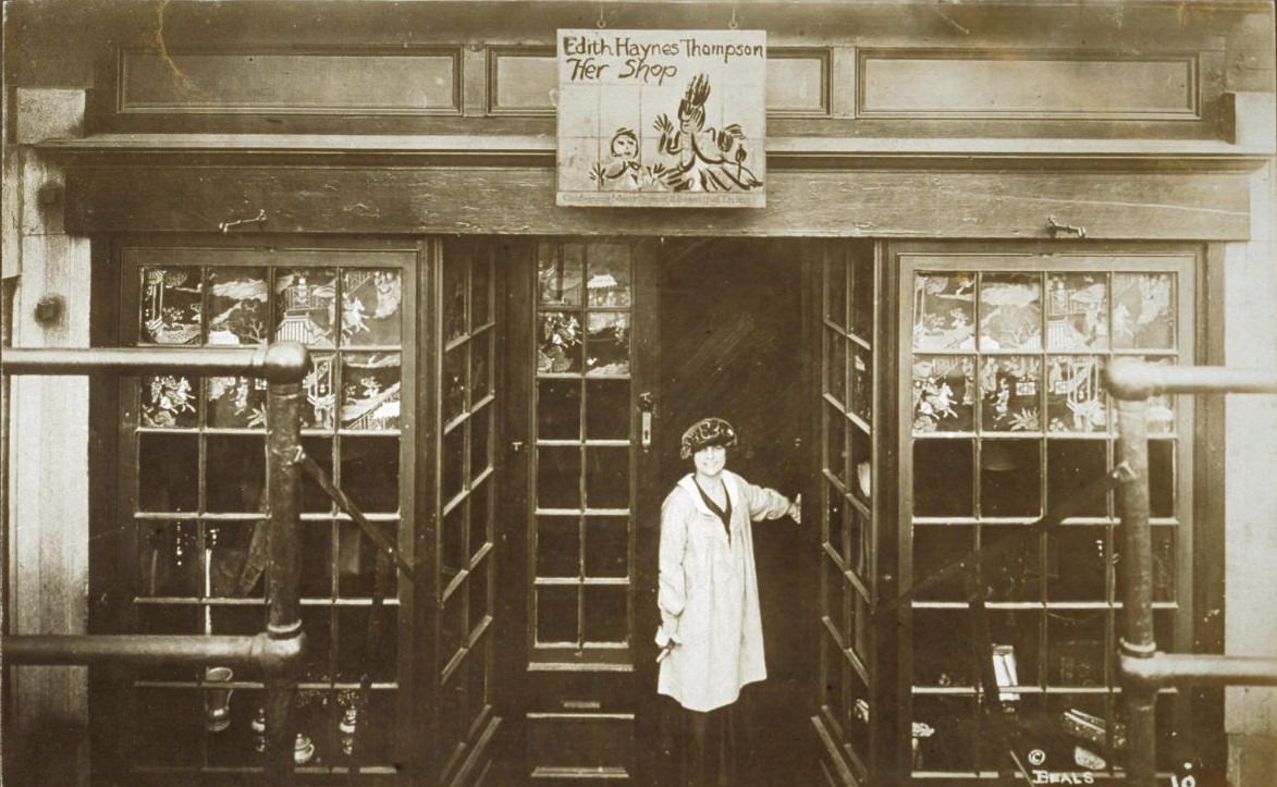
[[[862,118],[1194,120],[1195,55],[861,52]]]

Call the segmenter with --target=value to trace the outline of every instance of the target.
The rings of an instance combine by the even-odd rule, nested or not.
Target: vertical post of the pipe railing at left
[[[267,634],[272,639],[303,636],[298,600],[300,577],[301,478],[301,377],[308,365],[301,345],[272,345],[266,358],[267,392],[267,503],[269,506],[269,571],[267,572]],[[300,368],[300,371],[299,371]],[[272,668],[266,676],[266,783],[294,783],[294,741],[298,690],[296,661]]]

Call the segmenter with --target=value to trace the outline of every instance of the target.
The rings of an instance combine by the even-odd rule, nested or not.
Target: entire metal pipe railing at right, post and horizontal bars
[[[1277,658],[1158,653],[1153,639],[1153,551],[1148,525],[1148,397],[1160,394],[1277,394],[1277,372],[1225,367],[1166,367],[1117,358],[1105,369],[1117,399],[1117,459],[1128,471],[1117,487],[1126,572],[1125,627],[1119,672],[1126,705],[1128,783],[1157,781],[1154,705],[1162,686],[1177,684],[1277,685]]]

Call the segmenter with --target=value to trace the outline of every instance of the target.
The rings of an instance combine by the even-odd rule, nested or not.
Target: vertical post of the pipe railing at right
[[[1117,461],[1122,468],[1117,505],[1124,537],[1121,570],[1125,572],[1121,652],[1149,658],[1153,640],[1153,547],[1148,528],[1148,400],[1117,401]],[[1157,686],[1122,680],[1126,708],[1126,777],[1131,787],[1153,787],[1157,778],[1154,704]]]

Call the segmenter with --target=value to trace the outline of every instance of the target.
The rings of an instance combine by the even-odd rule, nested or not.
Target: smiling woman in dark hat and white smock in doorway
[[[683,709],[683,778],[697,786],[737,783],[732,712],[742,686],[767,677],[751,523],[801,516],[799,501],[727,469],[736,443],[722,418],[692,424],[679,455],[695,471],[660,510],[656,690]]]

